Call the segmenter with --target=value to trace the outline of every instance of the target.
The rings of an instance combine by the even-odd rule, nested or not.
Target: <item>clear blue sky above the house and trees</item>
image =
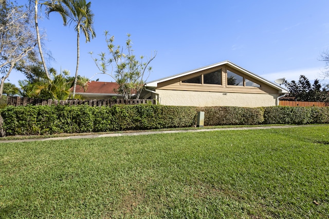
[[[138,56],[157,51],[148,81],[225,60],[272,82],[281,77],[297,80],[301,74],[321,78],[324,63],[319,57],[329,47],[327,0],[91,2],[97,36],[89,43],[81,36],[79,65],[79,74],[88,78],[99,72],[88,52],[106,52],[104,30],[115,36],[116,45],[124,45],[130,33]],[[45,48],[55,59],[48,65],[74,75],[74,26],[64,27],[55,13],[39,26],[47,34]],[[104,74],[97,78],[113,81]],[[9,76],[12,83],[18,79],[24,79],[23,74]]]

